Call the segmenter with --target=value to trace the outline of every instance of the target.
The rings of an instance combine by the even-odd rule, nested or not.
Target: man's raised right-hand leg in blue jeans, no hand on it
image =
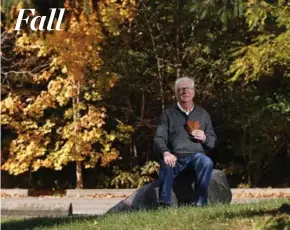
[[[208,185],[213,170],[212,160],[203,153],[195,153],[188,165],[193,167],[196,173],[196,205],[207,205]]]

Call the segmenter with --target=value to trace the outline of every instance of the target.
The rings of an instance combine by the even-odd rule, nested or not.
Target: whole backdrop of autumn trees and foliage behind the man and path
[[[185,75],[231,186],[289,185],[288,1],[48,2],[2,4],[2,170],[21,174],[4,171],[2,186],[153,180],[156,121]],[[65,30],[15,33],[25,4],[65,7]]]

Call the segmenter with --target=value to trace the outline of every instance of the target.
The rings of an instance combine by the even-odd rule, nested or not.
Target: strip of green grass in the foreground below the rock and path
[[[104,216],[63,217],[63,218],[3,218],[1,229],[198,229],[198,230],[246,230],[284,229],[290,230],[290,215],[281,214],[279,207],[289,200],[278,199],[253,204],[215,205],[205,208],[181,207],[110,214]],[[270,218],[282,218],[281,228],[275,227]],[[272,223],[272,222],[273,223]],[[271,222],[271,228],[263,223]],[[274,226],[274,227],[273,227]],[[278,225],[277,225],[278,226]],[[288,228],[287,228],[288,226]]]

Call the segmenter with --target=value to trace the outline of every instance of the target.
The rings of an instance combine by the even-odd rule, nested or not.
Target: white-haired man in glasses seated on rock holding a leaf
[[[205,148],[215,146],[216,135],[208,113],[193,103],[194,80],[188,77],[177,79],[175,93],[178,102],[163,112],[154,138],[155,149],[162,155],[159,203],[161,206],[171,205],[173,179],[186,167],[191,167],[196,173],[195,205],[204,206],[208,202],[207,191],[213,170]]]

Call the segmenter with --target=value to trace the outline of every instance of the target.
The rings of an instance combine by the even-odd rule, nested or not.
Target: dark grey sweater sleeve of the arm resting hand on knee
[[[165,151],[170,152],[168,148],[168,127],[168,117],[165,113],[162,113],[154,137],[154,152],[161,156]]]

